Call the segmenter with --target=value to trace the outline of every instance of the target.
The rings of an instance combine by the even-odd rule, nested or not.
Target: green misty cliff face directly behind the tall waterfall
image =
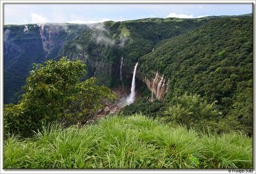
[[[62,55],[82,59],[88,65],[88,77],[95,76],[99,83],[113,87],[120,83],[122,57],[124,75],[131,73],[134,62],[151,52],[157,42],[196,29],[205,21],[179,18],[108,21],[69,41]]]

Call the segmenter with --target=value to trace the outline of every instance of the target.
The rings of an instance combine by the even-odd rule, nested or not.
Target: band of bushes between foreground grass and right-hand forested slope
[[[134,113],[143,113],[148,117],[158,117],[166,123],[175,122],[175,124],[182,124],[188,129],[196,127],[198,131],[208,130],[218,134],[237,130],[249,134],[253,131],[252,127],[244,126],[246,124],[252,126],[252,120],[245,119],[243,120],[244,124],[241,124],[234,117],[229,115],[225,117],[216,105],[216,101],[208,103],[198,94],[188,95],[185,93],[182,96],[175,96],[170,103],[151,102],[141,98],[131,105],[125,106],[121,113],[128,116]]]

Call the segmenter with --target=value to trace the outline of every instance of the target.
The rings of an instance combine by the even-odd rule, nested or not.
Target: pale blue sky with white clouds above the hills
[[[252,3],[220,4],[4,4],[4,24],[89,24],[148,17],[196,18],[252,13]]]

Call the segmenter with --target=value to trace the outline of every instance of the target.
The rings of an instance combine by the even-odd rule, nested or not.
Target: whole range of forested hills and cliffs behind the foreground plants
[[[137,99],[124,108],[127,114],[143,112],[161,117],[172,107],[186,108],[189,104],[196,108],[204,103],[220,113],[211,120],[215,127],[222,127],[218,129],[220,133],[239,129],[252,135],[250,14],[195,19],[143,18],[93,25],[6,25],[4,103],[18,101],[22,94],[20,87],[25,84],[32,63],[62,56],[82,60],[87,72],[83,79],[93,76],[97,85],[124,93],[119,99],[130,93],[134,65],[138,62]],[[183,99],[188,100],[186,105]],[[173,114],[168,117],[173,118]]]

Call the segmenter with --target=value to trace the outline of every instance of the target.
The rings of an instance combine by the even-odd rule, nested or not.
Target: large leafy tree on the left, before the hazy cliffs
[[[97,86],[95,78],[79,82],[85,75],[85,64],[62,57],[35,64],[24,86],[25,94],[18,105],[4,107],[4,126],[7,132],[31,135],[42,122],[84,122],[102,108],[103,99],[116,99],[110,89]],[[17,124],[19,122],[19,124]]]

